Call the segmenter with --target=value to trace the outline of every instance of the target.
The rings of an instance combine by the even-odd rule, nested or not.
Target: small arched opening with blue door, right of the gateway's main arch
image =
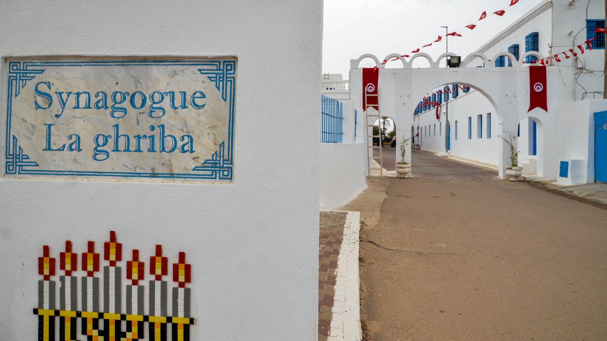
[[[518,166],[523,167],[523,176],[528,178],[543,175],[543,139],[541,121],[535,117],[525,117],[518,123],[517,151]]]

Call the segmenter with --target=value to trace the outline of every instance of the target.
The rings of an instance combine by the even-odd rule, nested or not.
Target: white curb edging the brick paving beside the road
[[[337,258],[337,279],[331,317],[331,333],[327,340],[362,340],[359,282],[359,232],[361,212],[348,212],[344,237]]]

